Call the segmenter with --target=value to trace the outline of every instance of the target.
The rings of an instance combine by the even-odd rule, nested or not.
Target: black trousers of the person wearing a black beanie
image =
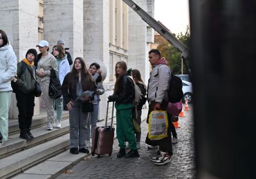
[[[19,129],[30,129],[34,114],[35,95],[33,93],[17,92],[16,99],[19,109]]]

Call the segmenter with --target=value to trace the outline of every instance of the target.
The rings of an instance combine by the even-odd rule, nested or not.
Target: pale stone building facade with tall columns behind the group
[[[154,16],[154,0],[134,1]],[[1,0],[0,19],[0,29],[8,34],[17,61],[39,40],[48,41],[51,52],[63,39],[73,59],[82,56],[86,65],[100,63],[106,76],[100,118],[105,117],[107,96],[113,93],[117,61],[140,70],[144,81],[149,77],[147,52],[154,32],[122,0]],[[37,98],[35,115],[39,111]],[[15,95],[9,116],[17,118]]]

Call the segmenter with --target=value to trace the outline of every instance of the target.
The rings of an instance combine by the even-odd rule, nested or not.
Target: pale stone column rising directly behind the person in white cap
[[[83,56],[83,1],[44,0],[44,39],[49,52],[62,39],[73,60]]]

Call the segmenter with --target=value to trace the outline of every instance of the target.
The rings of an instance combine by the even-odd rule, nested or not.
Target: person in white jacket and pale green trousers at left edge
[[[6,32],[0,30],[0,145],[8,139],[8,112],[12,87],[10,81],[17,73],[17,57]]]

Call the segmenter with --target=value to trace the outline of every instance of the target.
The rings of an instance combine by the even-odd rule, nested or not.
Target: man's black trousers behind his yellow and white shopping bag
[[[150,114],[150,112],[152,112],[154,110],[155,105],[156,105],[155,102],[152,102],[149,105],[149,112],[147,115],[147,123],[148,123],[149,114]],[[161,104],[161,109],[166,110],[167,105],[168,105],[168,102],[163,101],[163,103]],[[171,124],[172,123],[171,115],[169,113],[167,113],[167,116],[168,116],[168,123]],[[167,129],[167,135],[168,135],[167,138],[163,138],[161,140],[151,140],[150,141],[150,139],[147,136],[146,143],[149,145],[153,145],[153,146],[158,145],[158,147],[161,151],[167,152],[172,156],[172,132],[171,132],[171,129],[172,129],[172,125],[169,125],[169,127]],[[152,143],[152,144],[150,144],[150,143]]]

